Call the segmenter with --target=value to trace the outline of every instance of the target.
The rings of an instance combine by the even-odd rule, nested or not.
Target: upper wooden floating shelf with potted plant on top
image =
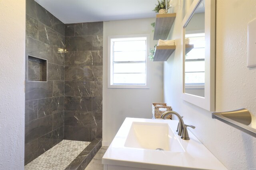
[[[167,39],[175,18],[176,18],[176,13],[156,14],[154,40]]]

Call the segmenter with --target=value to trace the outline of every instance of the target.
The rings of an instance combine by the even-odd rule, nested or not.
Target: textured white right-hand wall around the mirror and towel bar
[[[188,9],[177,13],[170,39],[180,44],[179,24]],[[184,9],[184,10],[183,10]],[[216,111],[245,107],[256,127],[256,68],[247,68],[247,23],[256,18],[256,0],[216,0]],[[164,63],[164,101],[181,115],[192,132],[229,169],[256,168],[256,138],[216,119],[211,112],[181,99],[181,47]]]

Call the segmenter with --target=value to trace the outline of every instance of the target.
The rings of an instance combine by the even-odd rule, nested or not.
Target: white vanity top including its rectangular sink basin
[[[190,140],[181,139],[177,125],[126,118],[102,158],[104,170],[227,170],[190,131]]]

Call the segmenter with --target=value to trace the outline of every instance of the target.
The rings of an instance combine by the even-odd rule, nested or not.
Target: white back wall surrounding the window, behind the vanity
[[[150,61],[150,89],[108,88],[108,36],[150,33],[154,48],[154,18],[104,22],[103,25],[103,138],[108,146],[126,117],[152,118],[152,102],[163,101],[163,63]]]

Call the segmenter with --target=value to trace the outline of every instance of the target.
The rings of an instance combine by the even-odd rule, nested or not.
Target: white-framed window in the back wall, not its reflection
[[[108,37],[108,88],[149,88],[149,34]]]

